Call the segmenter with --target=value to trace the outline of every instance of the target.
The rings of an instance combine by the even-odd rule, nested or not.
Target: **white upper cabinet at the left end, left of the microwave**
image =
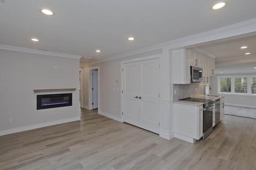
[[[173,84],[190,84],[188,51],[186,49],[174,50],[171,55]]]

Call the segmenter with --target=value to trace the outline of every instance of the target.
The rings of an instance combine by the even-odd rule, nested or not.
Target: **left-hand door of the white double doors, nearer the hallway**
[[[123,119],[138,126],[138,62],[123,64]]]

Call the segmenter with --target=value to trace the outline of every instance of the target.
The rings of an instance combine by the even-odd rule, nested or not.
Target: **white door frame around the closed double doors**
[[[161,56],[162,56],[162,54],[157,54],[157,55],[150,55],[150,56],[147,56],[147,57],[141,57],[141,58],[137,58],[137,59],[130,59],[130,60],[125,60],[125,61],[121,61],[120,62],[120,64],[121,64],[121,69],[120,69],[120,74],[121,74],[121,84],[120,84],[120,86],[121,86],[121,88],[122,88],[122,91],[124,90],[124,83],[123,83],[123,81],[124,81],[124,77],[123,77],[123,65],[125,64],[125,63],[132,63],[132,62],[137,62],[137,61],[143,61],[143,60],[150,60],[150,59],[158,59],[159,58],[159,65],[160,65],[160,59],[161,59]],[[160,82],[159,82],[159,86],[160,86]],[[161,90],[159,89],[159,94],[160,94],[160,96],[162,96],[162,94],[161,94]],[[124,122],[124,116],[123,116],[123,112],[124,112],[124,109],[123,109],[123,93],[120,93],[120,96],[121,96],[121,117],[122,117],[122,122]],[[159,100],[159,106],[160,106],[160,100]],[[160,107],[159,107],[159,113],[160,113]],[[159,116],[160,116],[160,114],[159,114]],[[159,117],[159,121],[160,121],[160,117]],[[160,133],[160,132],[159,132]]]

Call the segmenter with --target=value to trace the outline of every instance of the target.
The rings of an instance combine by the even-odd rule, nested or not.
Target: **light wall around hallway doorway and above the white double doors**
[[[121,61],[161,54],[162,49],[84,66],[84,107],[88,107],[88,69],[99,66],[99,113],[121,120]],[[116,80],[119,82],[117,83]],[[115,90],[113,90],[115,88]],[[117,91],[118,89],[118,91]]]

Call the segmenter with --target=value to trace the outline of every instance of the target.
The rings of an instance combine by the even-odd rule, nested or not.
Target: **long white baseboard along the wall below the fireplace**
[[[0,131],[0,136],[17,133],[17,132],[22,132],[22,131],[28,131],[28,130],[37,129],[37,128],[41,128],[41,127],[58,125],[58,124],[62,124],[62,123],[68,123],[68,122],[72,122],[72,121],[78,121],[78,120],[80,120],[80,116],[72,117],[69,119],[62,119],[62,120],[58,120],[58,121],[51,121],[51,122],[46,122],[46,123],[39,123],[36,125],[29,125],[29,126],[14,128],[14,129],[3,130],[3,131]]]

